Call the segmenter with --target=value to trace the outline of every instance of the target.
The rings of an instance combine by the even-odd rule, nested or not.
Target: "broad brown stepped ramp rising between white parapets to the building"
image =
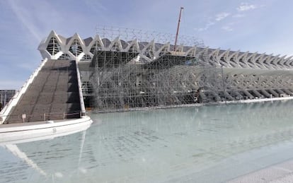
[[[79,118],[81,104],[76,62],[48,60],[4,124]]]

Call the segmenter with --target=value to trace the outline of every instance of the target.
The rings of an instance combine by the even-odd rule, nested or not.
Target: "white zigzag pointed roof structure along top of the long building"
[[[72,37],[63,37],[57,35],[54,30],[50,35],[40,42],[38,47],[43,59],[72,59],[78,61],[90,61],[97,50],[113,51],[113,52],[137,52],[141,60],[152,61],[159,58],[166,52],[173,51],[173,45],[169,42],[165,44],[156,43],[154,40],[150,42],[139,42],[137,39],[125,41],[116,37],[115,40],[108,40],[99,35],[96,37],[88,37],[81,39],[79,34],[75,33]],[[202,53],[206,53],[211,61],[215,64],[246,69],[292,69],[293,59],[280,55],[258,54],[258,52],[240,52],[210,49],[209,47],[188,47],[179,45],[176,52],[180,56],[198,57]]]

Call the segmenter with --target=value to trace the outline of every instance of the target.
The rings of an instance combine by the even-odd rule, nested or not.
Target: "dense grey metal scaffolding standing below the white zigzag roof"
[[[137,52],[96,52],[91,63],[96,110],[212,102],[221,100],[219,93],[228,88],[221,68],[205,64],[203,56],[165,52],[152,61],[138,61],[138,56]]]

